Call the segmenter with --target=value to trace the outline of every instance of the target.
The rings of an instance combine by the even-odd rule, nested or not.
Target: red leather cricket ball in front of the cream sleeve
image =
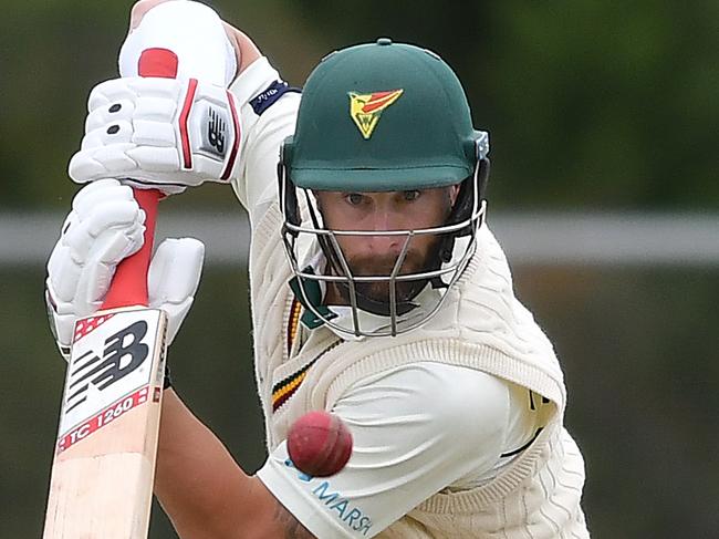
[[[299,470],[313,477],[327,477],[350,460],[352,434],[336,415],[309,412],[290,427],[288,452]]]

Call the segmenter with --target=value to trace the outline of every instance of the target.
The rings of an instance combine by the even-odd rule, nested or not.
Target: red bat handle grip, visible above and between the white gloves
[[[145,49],[138,60],[140,76],[175,79],[177,55],[168,49]],[[163,194],[157,189],[133,188],[135,200],[145,210],[145,242],[136,253],[124,259],[115,271],[102,309],[145,305],[148,303],[147,272],[153,257],[157,205]]]

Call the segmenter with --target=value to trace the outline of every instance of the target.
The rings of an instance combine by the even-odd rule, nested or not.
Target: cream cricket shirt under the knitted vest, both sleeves
[[[261,59],[232,90],[243,105],[278,79]],[[251,222],[277,200],[279,147],[298,104],[299,95],[288,94],[261,115],[242,106],[246,182],[235,188]],[[311,344],[312,332],[303,331]],[[317,537],[373,537],[438,490],[491,480],[538,435],[536,402],[529,390],[473,369],[409,363],[362,379],[336,402],[333,413],[354,438],[340,474],[305,476],[282,442],[258,477]]]

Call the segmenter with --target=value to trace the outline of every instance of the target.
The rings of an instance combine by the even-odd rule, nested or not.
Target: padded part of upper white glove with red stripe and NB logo
[[[77,183],[118,178],[170,195],[233,177],[240,116],[221,86],[195,79],[114,79],[95,86],[87,108],[82,147],[69,166]]]

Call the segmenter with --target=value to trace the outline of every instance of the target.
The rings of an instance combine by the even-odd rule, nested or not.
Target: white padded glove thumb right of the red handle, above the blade
[[[149,266],[149,305],[167,313],[167,342],[185,320],[202,273],[205,245],[195,238],[166,239]]]

